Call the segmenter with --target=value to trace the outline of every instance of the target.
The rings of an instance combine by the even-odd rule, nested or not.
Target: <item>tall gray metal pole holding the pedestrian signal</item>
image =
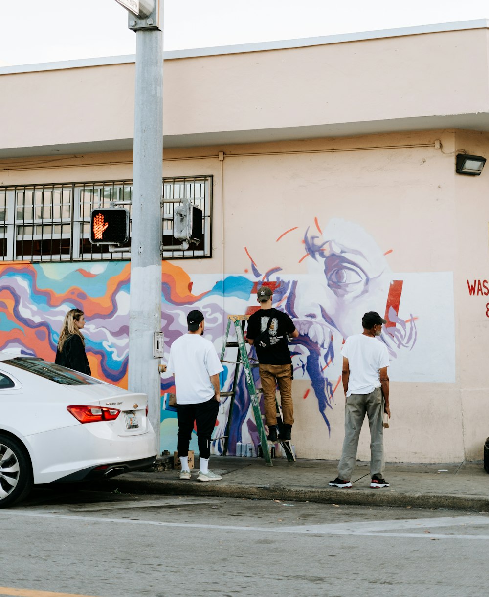
[[[136,32],[135,121],[129,304],[129,390],[148,395],[160,453],[161,376],[154,333],[161,332],[163,180],[163,0],[117,0]],[[136,14],[137,16],[136,16]]]

